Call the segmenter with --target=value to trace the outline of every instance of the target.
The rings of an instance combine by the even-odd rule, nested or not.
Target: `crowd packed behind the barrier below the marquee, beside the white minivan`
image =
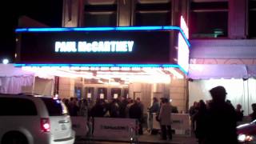
[[[70,98],[62,99],[62,102],[69,110],[70,116],[84,116],[86,118],[109,117],[109,118],[135,118],[138,119],[138,134],[143,134],[142,122],[144,106],[140,98],[136,100],[131,98],[113,98],[104,100],[97,98],[96,101],[91,99]]]

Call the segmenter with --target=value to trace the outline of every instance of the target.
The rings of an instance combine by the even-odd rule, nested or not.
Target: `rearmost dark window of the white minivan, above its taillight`
[[[42,101],[46,104],[50,116],[61,116],[67,114],[61,100],[54,98],[42,98]]]

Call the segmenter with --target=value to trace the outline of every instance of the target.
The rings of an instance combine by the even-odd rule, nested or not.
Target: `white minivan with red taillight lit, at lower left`
[[[51,97],[0,94],[1,144],[73,144],[66,106]]]

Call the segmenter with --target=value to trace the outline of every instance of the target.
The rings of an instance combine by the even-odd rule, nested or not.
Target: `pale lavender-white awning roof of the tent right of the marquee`
[[[256,76],[256,66],[246,65],[213,65],[213,64],[190,64],[188,77],[192,79],[210,78],[249,78]]]

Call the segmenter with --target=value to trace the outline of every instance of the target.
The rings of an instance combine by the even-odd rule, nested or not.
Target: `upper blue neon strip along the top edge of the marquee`
[[[66,31],[136,31],[136,30],[179,30],[182,33],[187,45],[190,42],[186,38],[186,34],[179,26],[119,26],[119,27],[52,27],[52,28],[20,28],[16,29],[16,33],[22,32],[66,32]]]

